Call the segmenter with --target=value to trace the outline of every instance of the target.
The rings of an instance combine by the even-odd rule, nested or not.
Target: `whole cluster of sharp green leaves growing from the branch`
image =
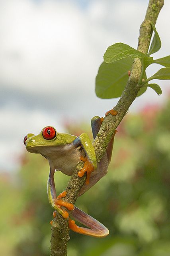
[[[141,87],[137,96],[143,94],[147,86],[155,90],[160,95],[162,90],[158,84],[148,84],[152,79],[166,80],[170,79],[170,56],[154,60],[150,54],[157,52],[161,47],[160,37],[152,22],[150,22],[154,31],[154,37],[150,44],[149,54],[144,54],[135,50],[131,46],[123,43],[116,43],[109,46],[104,54],[104,62],[101,64],[96,76],[96,95],[99,98],[117,98],[120,97],[125,85],[127,84],[128,70],[131,70],[133,59],[140,58],[142,64],[141,77],[138,84]],[[105,63],[106,62],[106,63]],[[145,70],[150,64],[160,64],[166,68],[162,68],[150,78],[146,77]],[[145,81],[143,81],[145,80]]]

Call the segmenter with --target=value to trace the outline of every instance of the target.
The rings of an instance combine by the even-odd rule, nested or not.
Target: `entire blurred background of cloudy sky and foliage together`
[[[116,42],[137,48],[148,2],[0,0],[1,255],[49,255],[49,166],[25,152],[23,137],[47,125],[91,136],[90,119],[118,100],[94,92],[103,54]],[[154,58],[170,54],[170,2],[164,2],[156,23],[162,48]],[[69,256],[170,255],[170,83],[158,84],[162,95],[148,88],[119,126],[107,176],[76,202],[110,235],[70,232]],[[57,194],[68,179],[56,174]]]

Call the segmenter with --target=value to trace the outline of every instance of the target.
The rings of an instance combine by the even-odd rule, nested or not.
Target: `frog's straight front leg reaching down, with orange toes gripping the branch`
[[[61,209],[61,206],[65,206],[68,210],[73,210],[74,205],[62,200],[62,198],[66,196],[66,191],[63,191],[56,198],[54,173],[55,173],[54,170],[50,170],[49,178],[47,181],[47,194],[48,194],[49,203],[64,218],[68,218],[68,212]]]

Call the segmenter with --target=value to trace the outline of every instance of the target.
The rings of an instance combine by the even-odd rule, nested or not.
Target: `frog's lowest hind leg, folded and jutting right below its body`
[[[71,215],[74,216],[74,218],[78,220],[78,222],[88,227],[81,228],[75,224],[74,220],[69,219],[69,228],[74,232],[99,238],[105,237],[109,234],[109,230],[102,223],[98,222],[98,220],[95,220],[93,217],[86,214],[75,206],[74,210],[72,210]]]

